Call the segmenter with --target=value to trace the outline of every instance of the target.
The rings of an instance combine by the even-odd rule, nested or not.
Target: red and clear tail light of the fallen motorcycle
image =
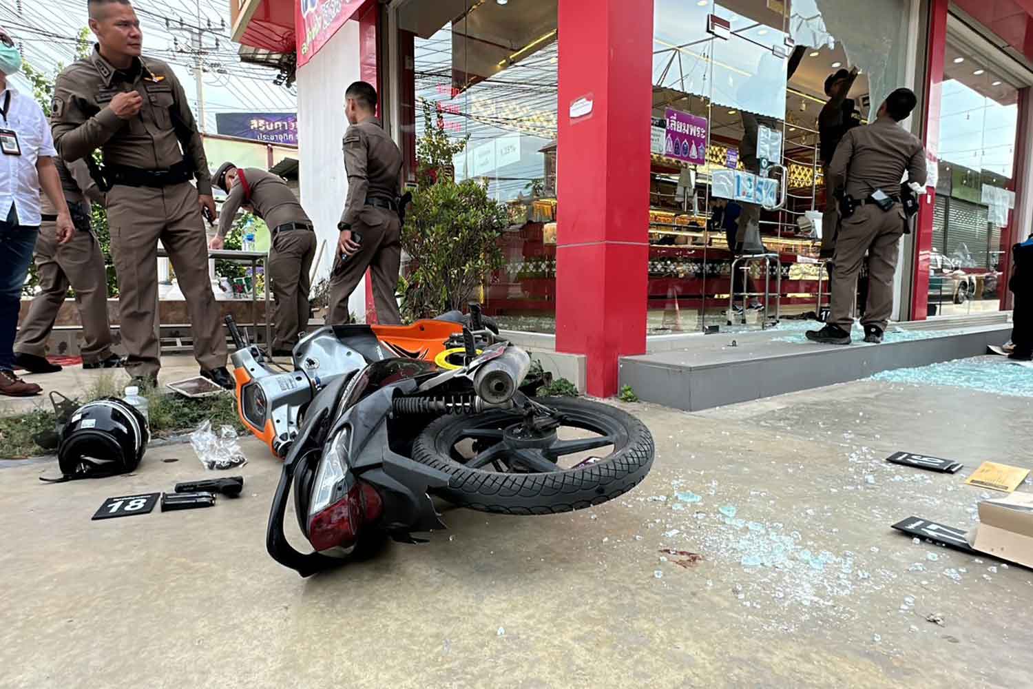
[[[383,510],[380,495],[369,483],[355,480],[347,468],[347,428],[330,443],[313,482],[309,507],[309,542],[317,551],[348,547],[363,525],[375,521]]]

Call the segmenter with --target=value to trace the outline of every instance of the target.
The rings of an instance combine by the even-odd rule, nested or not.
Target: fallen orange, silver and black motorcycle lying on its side
[[[430,495],[506,514],[549,514],[612,500],[653,463],[653,438],[624,411],[520,390],[527,352],[464,331],[465,363],[390,356],[366,325],[326,326],[277,372],[230,318],[238,403],[284,457],[267,549],[303,576],[375,550],[385,537],[443,529]],[[481,334],[483,337],[483,334]],[[287,540],[289,494],[314,549]]]

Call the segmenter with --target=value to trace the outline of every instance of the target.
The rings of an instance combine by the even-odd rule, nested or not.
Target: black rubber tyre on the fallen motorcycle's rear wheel
[[[443,416],[416,438],[412,459],[451,475],[448,488],[437,495],[463,507],[499,514],[553,514],[584,509],[613,500],[637,486],[653,465],[653,436],[646,426],[625,411],[575,398],[536,400],[561,414],[586,418],[612,431],[613,452],[601,461],[543,473],[507,473],[471,469],[452,459],[451,448],[471,421],[505,424],[520,416],[510,411],[486,411],[473,416]]]

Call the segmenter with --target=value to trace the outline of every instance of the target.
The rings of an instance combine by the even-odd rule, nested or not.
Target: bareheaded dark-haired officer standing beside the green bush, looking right
[[[344,97],[351,124],[344,133],[348,199],[338,223],[341,237],[331,274],[326,323],[348,322],[348,296],[369,269],[377,320],[397,325],[402,322],[395,297],[402,261],[402,152],[375,117],[377,92],[372,86],[355,82]]]

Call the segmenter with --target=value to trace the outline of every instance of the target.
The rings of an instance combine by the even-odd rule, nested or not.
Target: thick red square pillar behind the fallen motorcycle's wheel
[[[556,348],[608,397],[646,351],[653,2],[560,0],[559,36]]]

